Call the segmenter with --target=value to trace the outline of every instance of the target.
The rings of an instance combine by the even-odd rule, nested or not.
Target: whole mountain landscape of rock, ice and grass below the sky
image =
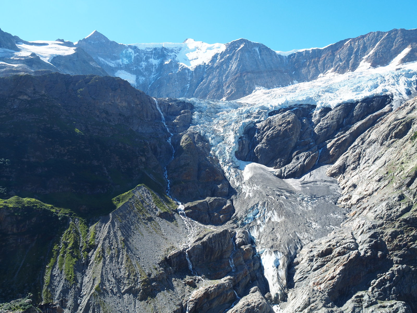
[[[0,30],[0,120],[2,313],[417,313],[417,29]]]

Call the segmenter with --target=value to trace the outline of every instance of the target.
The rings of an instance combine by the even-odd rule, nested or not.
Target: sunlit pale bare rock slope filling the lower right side
[[[414,98],[328,169],[349,217],[299,252],[284,312],[416,312],[416,121]]]

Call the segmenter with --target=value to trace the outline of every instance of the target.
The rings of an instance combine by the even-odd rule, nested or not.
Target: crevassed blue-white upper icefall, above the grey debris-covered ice
[[[239,137],[273,110],[294,104],[318,108],[359,101],[369,96],[392,94],[394,107],[416,94],[417,62],[397,65],[403,51],[388,66],[362,68],[345,74],[328,73],[314,81],[269,90],[255,90],[236,101],[185,99],[194,105],[191,129],[204,136],[233,183],[241,174],[234,156]]]

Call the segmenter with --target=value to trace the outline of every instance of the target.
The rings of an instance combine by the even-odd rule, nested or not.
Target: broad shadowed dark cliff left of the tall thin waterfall
[[[101,199],[90,202],[96,210],[113,210],[111,198],[138,182],[166,189],[170,134],[153,98],[108,76],[1,80],[4,195],[36,195],[86,213],[86,196]]]

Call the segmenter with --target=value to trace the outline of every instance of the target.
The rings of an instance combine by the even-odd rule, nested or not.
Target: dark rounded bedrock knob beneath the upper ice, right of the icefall
[[[391,101],[390,96],[376,96],[332,110],[299,105],[272,111],[241,137],[236,157],[274,167],[280,178],[300,177],[317,163],[334,163],[391,111]]]

